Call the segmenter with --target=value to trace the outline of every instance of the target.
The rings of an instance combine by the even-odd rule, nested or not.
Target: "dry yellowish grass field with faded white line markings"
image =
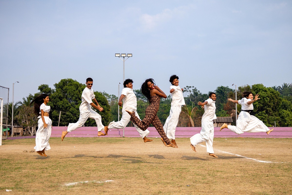
[[[215,138],[219,158],[176,142],[51,138],[42,157],[35,139],[4,140],[0,194],[292,194],[292,139]]]

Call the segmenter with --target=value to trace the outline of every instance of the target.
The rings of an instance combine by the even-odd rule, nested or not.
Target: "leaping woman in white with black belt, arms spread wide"
[[[238,103],[241,105],[241,112],[238,115],[237,125],[226,125],[225,123],[220,127],[220,131],[227,128],[236,134],[243,134],[244,132],[266,132],[270,134],[274,129],[269,129],[263,121],[252,115],[253,102],[257,101],[258,94],[255,95],[253,99],[253,94],[251,92],[243,92],[243,98],[241,100],[233,100],[228,98],[227,100],[233,103]]]

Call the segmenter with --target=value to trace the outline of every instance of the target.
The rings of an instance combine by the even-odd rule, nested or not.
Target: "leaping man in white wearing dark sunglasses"
[[[93,85],[93,79],[87,78],[86,87],[83,90],[82,95],[81,95],[82,102],[79,106],[79,111],[80,111],[79,120],[76,123],[69,123],[67,131],[62,132],[62,137],[61,137],[62,141],[67,133],[84,125],[84,123],[86,122],[88,118],[92,118],[95,120],[97,129],[98,129],[98,136],[106,135],[101,132],[101,130],[105,129],[105,126],[103,126],[101,122],[101,116],[97,112],[91,109],[91,106],[93,106],[94,108],[98,109],[100,112],[103,111],[103,108],[98,104],[97,100],[95,99],[93,89],[91,89],[92,85]],[[96,103],[96,105],[93,103],[93,101]]]

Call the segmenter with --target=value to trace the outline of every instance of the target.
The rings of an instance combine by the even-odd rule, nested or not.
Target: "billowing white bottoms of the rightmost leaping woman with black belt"
[[[244,111],[238,115],[237,126],[228,125],[227,128],[238,135],[244,132],[258,133],[270,130],[263,121]]]

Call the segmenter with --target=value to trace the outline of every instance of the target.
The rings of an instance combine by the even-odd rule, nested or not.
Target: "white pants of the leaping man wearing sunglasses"
[[[82,125],[84,125],[84,123],[86,122],[88,118],[92,118],[95,120],[98,131],[105,129],[105,126],[103,126],[101,123],[101,116],[97,112],[90,109],[86,112],[81,112],[79,116],[79,120],[76,123],[69,123],[67,132],[71,132],[79,127],[82,127]]]

